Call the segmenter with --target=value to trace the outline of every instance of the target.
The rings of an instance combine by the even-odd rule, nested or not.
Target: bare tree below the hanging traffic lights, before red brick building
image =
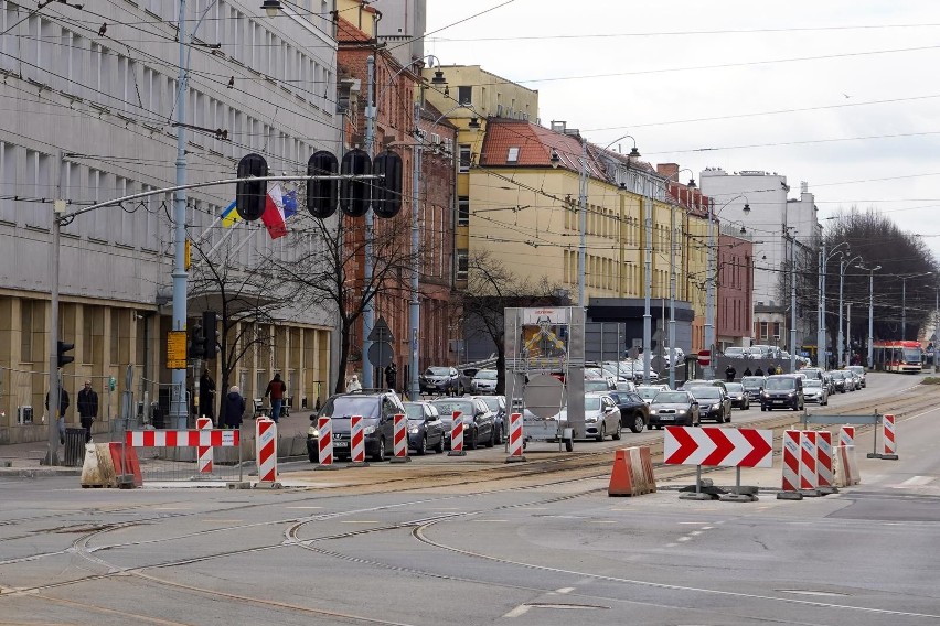
[[[278,280],[292,285],[299,304],[323,307],[337,316],[340,361],[335,392],[344,390],[349,363],[362,358],[353,343],[368,304],[384,295],[408,292],[413,267],[409,227],[406,216],[374,220],[371,280],[364,272],[366,231],[362,218],[324,220],[299,213],[291,222],[287,242],[290,261],[274,257],[266,261]]]

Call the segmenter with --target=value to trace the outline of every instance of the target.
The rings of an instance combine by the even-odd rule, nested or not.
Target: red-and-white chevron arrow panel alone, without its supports
[[[773,431],[666,427],[663,460],[670,465],[772,467]]]

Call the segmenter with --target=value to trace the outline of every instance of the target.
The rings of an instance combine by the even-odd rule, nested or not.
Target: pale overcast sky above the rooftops
[[[543,126],[809,183],[940,258],[940,2],[427,0],[426,53],[538,90]],[[629,139],[620,142],[632,147]],[[683,173],[683,180],[686,179]]]

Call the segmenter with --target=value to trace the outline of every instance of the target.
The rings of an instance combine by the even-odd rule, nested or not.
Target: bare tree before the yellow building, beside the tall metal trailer
[[[468,338],[492,341],[496,353],[496,393],[505,392],[505,309],[510,306],[559,306],[568,304],[560,285],[546,277],[520,277],[487,250],[468,260],[467,290],[462,294]]]

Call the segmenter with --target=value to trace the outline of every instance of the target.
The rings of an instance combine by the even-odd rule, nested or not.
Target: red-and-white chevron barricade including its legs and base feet
[[[741,486],[741,467],[772,467],[772,453],[770,430],[666,427],[663,438],[664,463],[696,466],[695,485],[682,489],[682,499],[757,500],[757,487]],[[703,481],[703,465],[735,467],[735,486],[717,487]]]

